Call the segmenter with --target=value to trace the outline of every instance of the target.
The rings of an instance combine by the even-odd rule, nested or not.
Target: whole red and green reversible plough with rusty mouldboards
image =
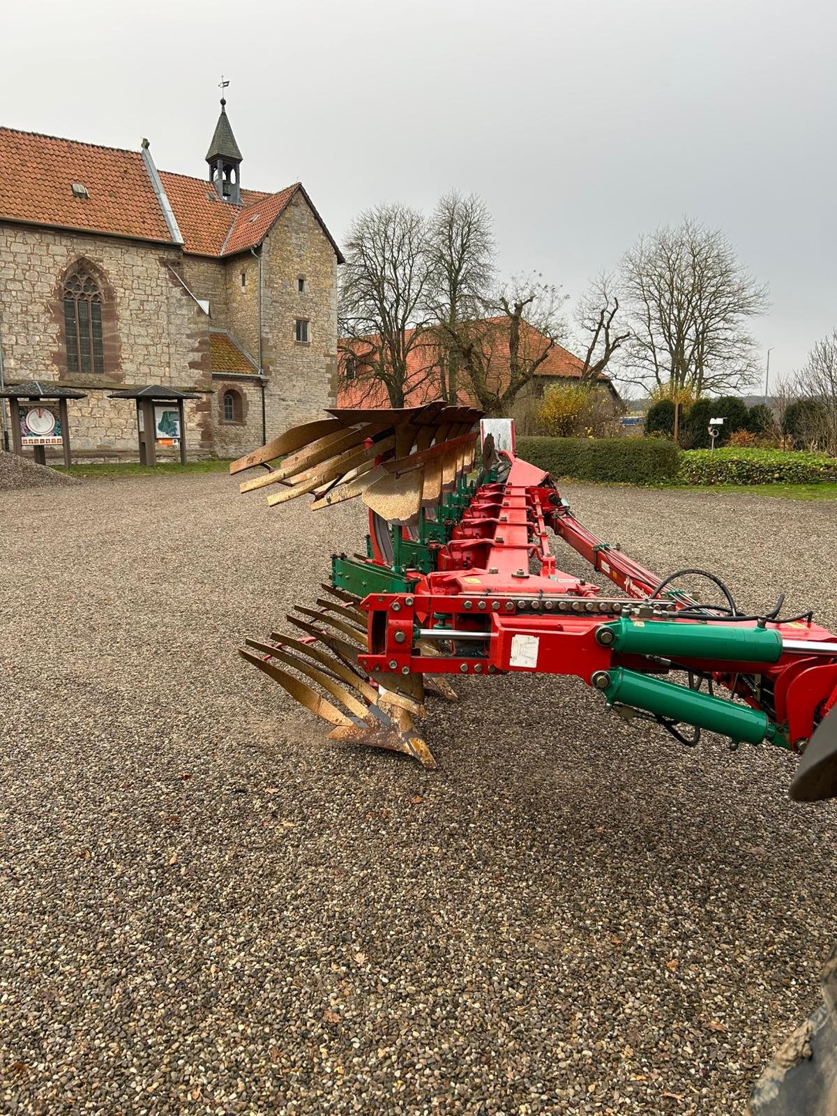
[[[713,574],[661,579],[597,539],[549,474],[514,455],[508,423],[483,422],[475,473],[479,417],[442,403],[336,408],[233,462],[232,473],[260,470],[240,488],[264,489],[271,506],[359,497],[369,519],[366,552],[333,555],[321,596],[269,638],[248,639],[244,658],[328,722],[333,739],[429,768],[417,724],[429,696],[455,699],[450,675],[568,674],[683,744],[706,729],[731,747],[798,753],[791,797],[836,797],[837,636],[810,614],[782,617],[783,597],[764,615],[742,612]],[[550,532],[607,590],[557,568]],[[686,591],[685,575],[723,603]],[[775,1077],[773,1099],[757,1090],[752,1112],[785,1112],[770,1107],[783,1087]]]

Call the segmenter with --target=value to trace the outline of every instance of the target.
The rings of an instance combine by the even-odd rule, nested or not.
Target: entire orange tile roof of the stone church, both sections
[[[0,127],[0,166],[4,180],[15,182],[13,190],[0,192],[0,221],[173,243],[138,152]],[[222,201],[206,180],[158,173],[184,252],[219,257],[256,248],[291,199],[301,193],[343,262],[339,248],[299,182],[273,194],[242,190],[242,204],[233,205]],[[86,186],[89,198],[74,198],[74,182]]]

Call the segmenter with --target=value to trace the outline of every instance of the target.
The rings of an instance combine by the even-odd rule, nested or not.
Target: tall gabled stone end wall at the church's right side
[[[304,276],[306,290],[297,290]],[[295,339],[297,318],[310,340]],[[262,367],[267,435],[317,417],[337,398],[337,259],[301,194],[262,246]]]

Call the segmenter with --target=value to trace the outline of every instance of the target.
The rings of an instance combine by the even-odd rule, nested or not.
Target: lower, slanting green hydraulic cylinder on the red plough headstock
[[[674,682],[639,674],[637,671],[613,670],[598,671],[593,675],[593,685],[600,690],[608,702],[643,709],[672,721],[684,721],[734,741],[747,741],[759,744],[762,740],[782,742],[778,728],[770,721],[767,713],[738,705],[679,686]]]

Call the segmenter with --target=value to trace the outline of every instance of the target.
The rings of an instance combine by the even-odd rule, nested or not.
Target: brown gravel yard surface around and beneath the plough
[[[566,494],[660,574],[837,622],[830,504]],[[234,648],[358,507],[223,475],[2,507],[3,1116],[738,1113],[819,1002],[837,811],[780,751],[522,676],[433,706],[437,772],[335,745]]]

